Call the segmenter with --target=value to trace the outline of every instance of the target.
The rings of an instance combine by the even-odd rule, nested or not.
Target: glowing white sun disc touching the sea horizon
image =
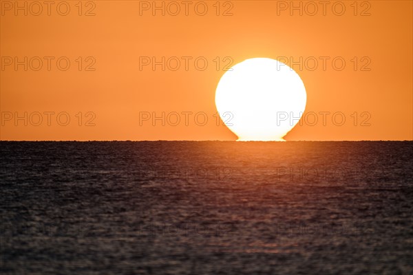
[[[306,88],[288,65],[246,59],[220,79],[215,104],[238,141],[284,141],[306,108]]]

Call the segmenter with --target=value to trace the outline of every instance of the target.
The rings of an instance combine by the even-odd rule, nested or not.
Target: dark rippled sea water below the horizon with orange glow
[[[413,274],[413,142],[1,142],[1,274]]]

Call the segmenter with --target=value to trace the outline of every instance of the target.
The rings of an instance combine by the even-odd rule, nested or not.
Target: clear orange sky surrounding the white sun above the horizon
[[[224,65],[253,57],[297,61],[306,121],[286,140],[413,139],[412,1],[358,1],[357,10],[354,1],[327,1],[325,10],[320,1],[294,1],[302,15],[290,1],[189,1],[187,15],[184,1],[156,1],[165,16],[152,10],[153,1],[83,1],[81,10],[79,1],[54,1],[50,10],[44,1],[18,2],[21,10],[16,1],[0,1],[1,140],[235,140],[222,121],[217,125],[215,88]],[[226,10],[232,15],[223,16]],[[148,57],[177,57],[180,67],[170,70],[176,63],[169,59],[165,71],[152,70],[140,63]],[[315,70],[311,57],[319,61]],[[346,67],[334,68],[332,59]],[[142,112],[165,112],[165,126],[140,121]],[[325,125],[323,112],[330,112]],[[314,114],[318,122],[310,125]],[[335,121],[332,114],[339,114]],[[341,116],[346,122],[337,125]]]

